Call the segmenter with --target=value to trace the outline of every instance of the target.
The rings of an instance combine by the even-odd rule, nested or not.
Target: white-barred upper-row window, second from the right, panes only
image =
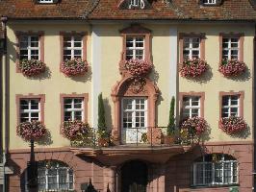
[[[183,59],[192,60],[200,58],[200,38],[184,37],[183,40]]]

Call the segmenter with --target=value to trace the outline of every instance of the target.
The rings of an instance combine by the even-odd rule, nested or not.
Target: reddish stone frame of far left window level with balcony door
[[[21,100],[33,100],[33,99],[38,99],[39,100],[39,116],[38,119],[42,124],[44,124],[44,104],[45,104],[45,95],[44,94],[29,94],[29,95],[21,95],[21,94],[16,94],[16,122],[17,125],[21,122],[21,107],[20,107],[20,101]]]

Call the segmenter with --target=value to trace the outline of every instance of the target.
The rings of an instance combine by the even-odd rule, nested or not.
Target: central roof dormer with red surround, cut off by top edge
[[[152,6],[147,0],[120,0],[117,7],[121,10],[146,10]]]

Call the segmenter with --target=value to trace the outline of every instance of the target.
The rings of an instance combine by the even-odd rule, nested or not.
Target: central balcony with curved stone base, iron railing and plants
[[[110,165],[129,159],[164,163],[171,156],[183,154],[198,143],[198,138],[192,134],[175,132],[166,137],[166,127],[127,130],[119,134],[108,132],[107,136],[100,137],[95,129],[91,129],[92,132],[83,141],[71,141],[70,149],[77,156],[90,156]]]

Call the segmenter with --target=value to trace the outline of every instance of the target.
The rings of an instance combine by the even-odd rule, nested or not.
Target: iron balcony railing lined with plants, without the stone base
[[[200,138],[193,132],[175,130],[166,135],[167,127],[146,127],[122,129],[116,134],[108,129],[99,132],[90,128],[87,135],[71,141],[71,147],[76,148],[118,148],[118,147],[169,147],[191,145],[198,143]]]

